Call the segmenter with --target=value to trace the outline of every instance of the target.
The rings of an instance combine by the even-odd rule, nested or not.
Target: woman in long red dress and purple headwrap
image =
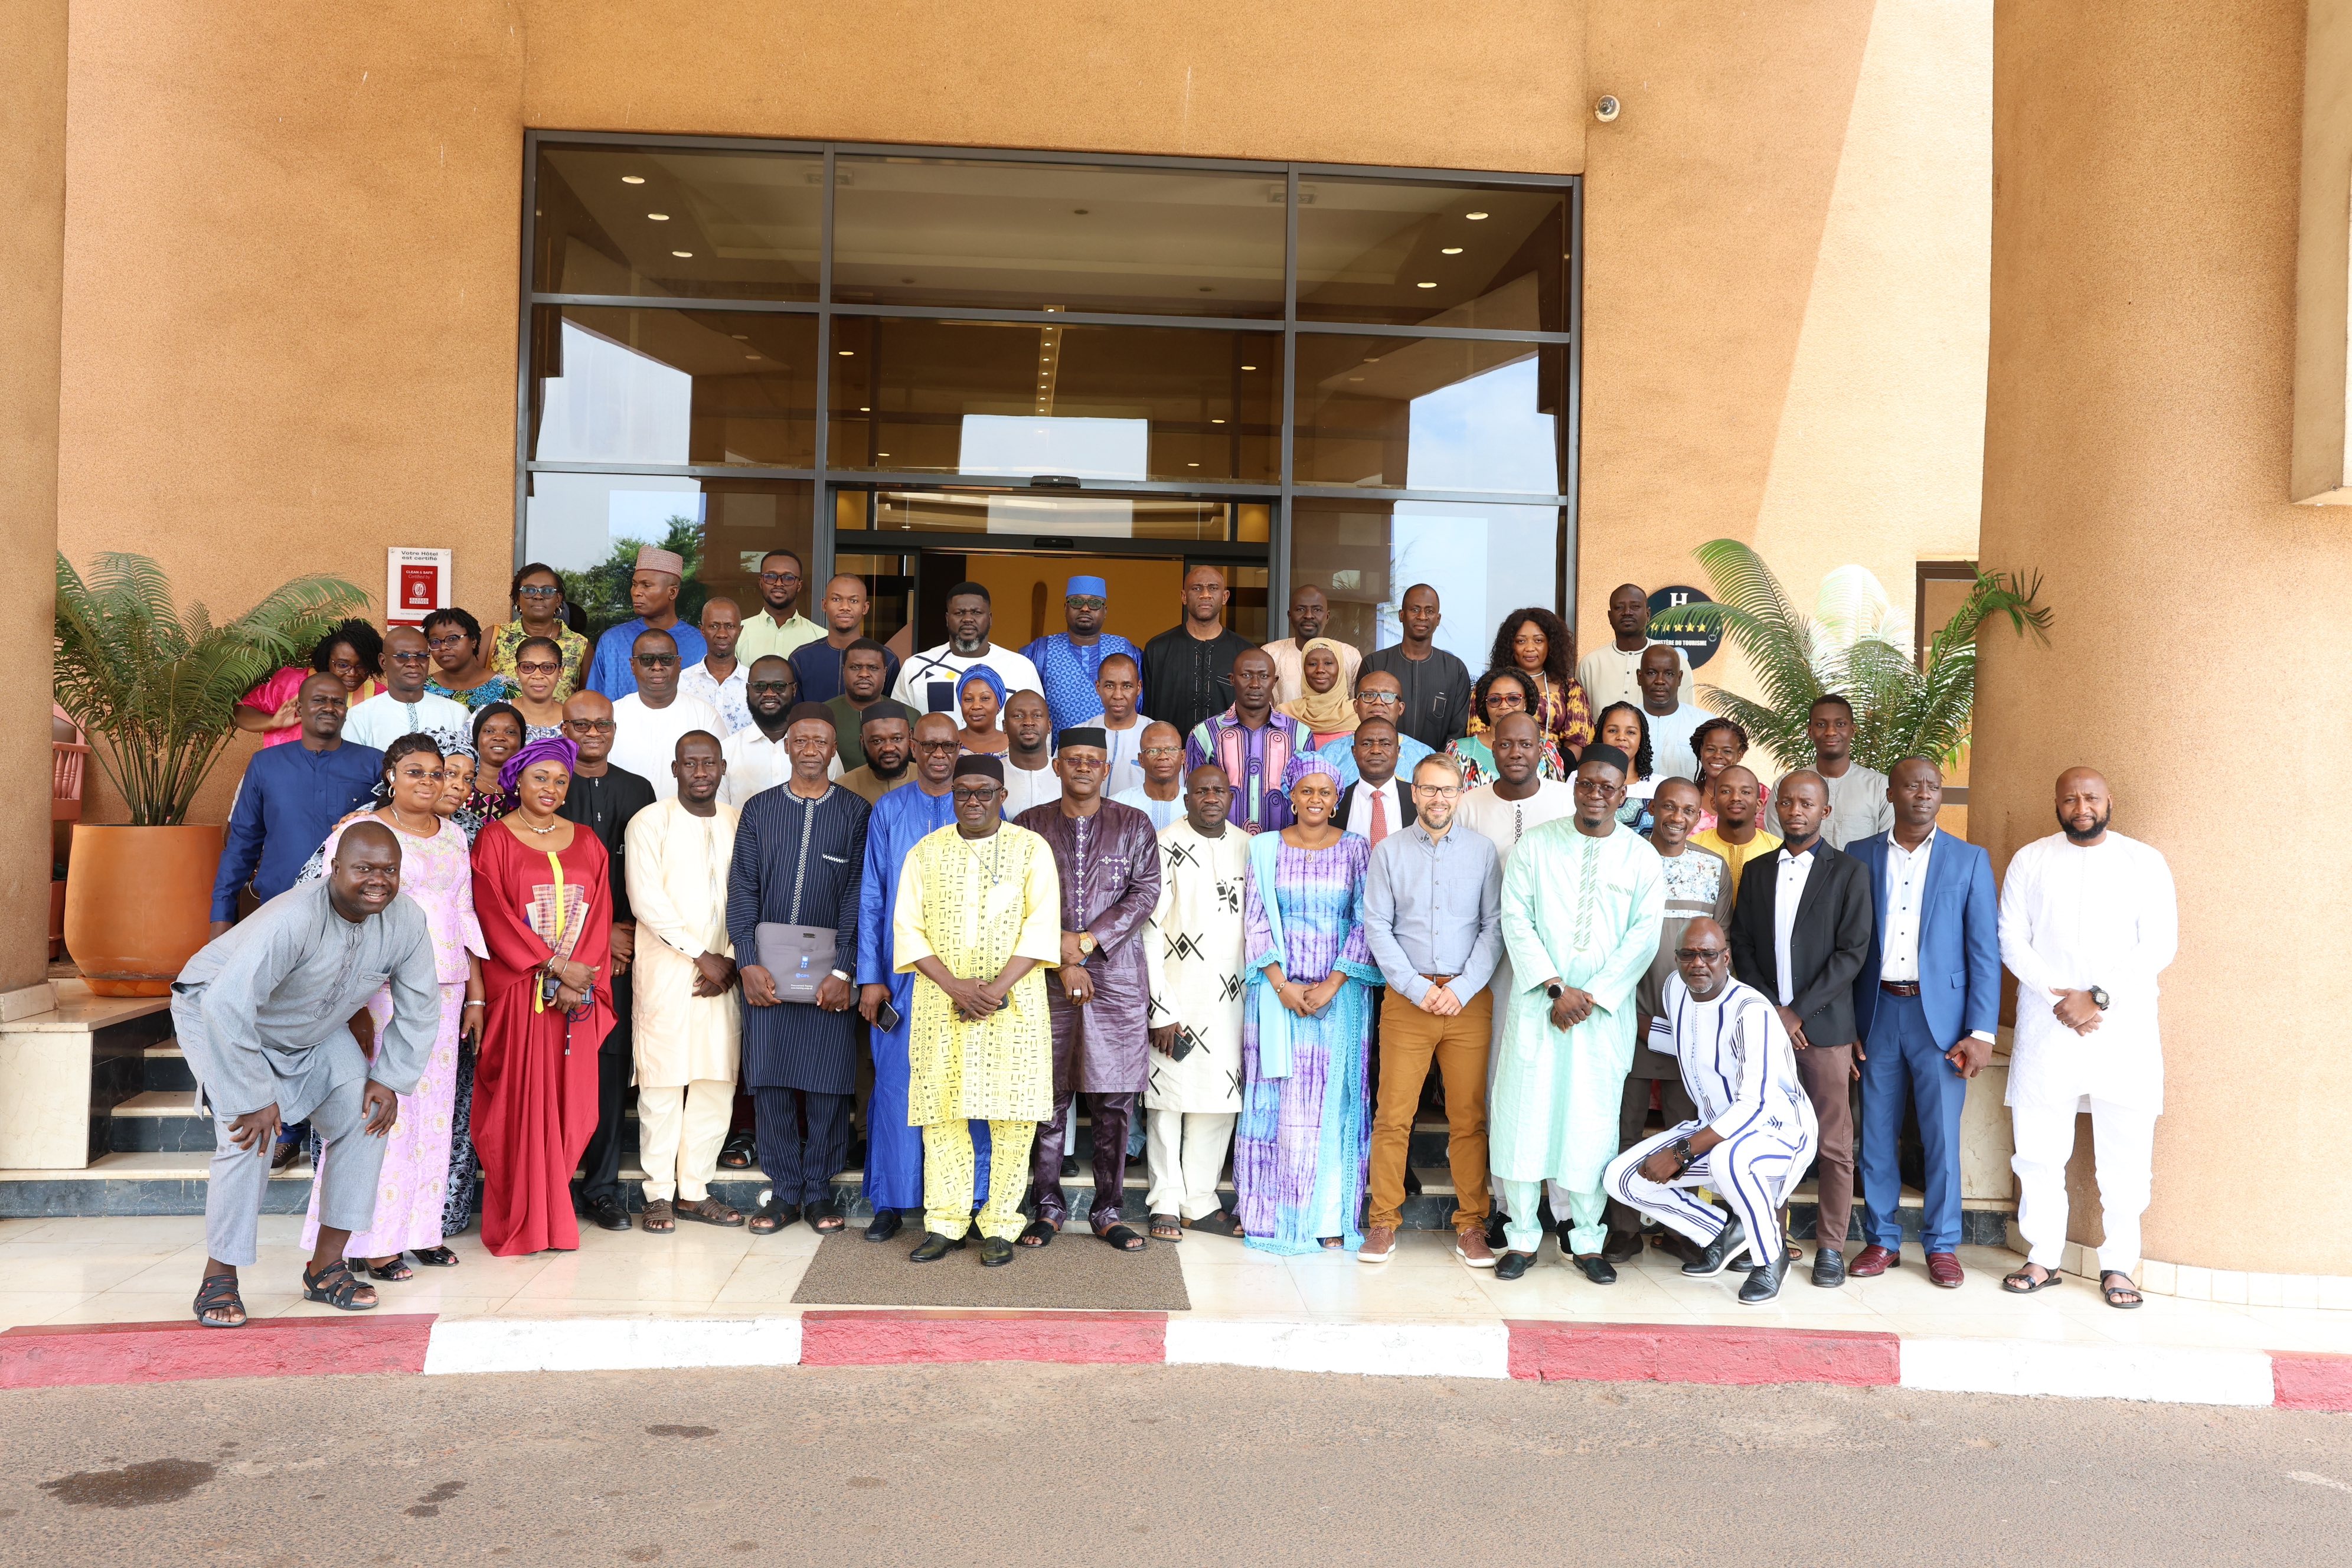
[[[555,816],[569,741],[532,741],[499,788],[520,804],[473,844],[489,992],[473,1077],[482,1244],[499,1258],[581,1244],[572,1173],[595,1133],[597,1046],[612,1030],[612,872],[593,832]]]

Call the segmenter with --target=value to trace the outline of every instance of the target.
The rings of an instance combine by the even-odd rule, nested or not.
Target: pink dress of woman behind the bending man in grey
[[[397,830],[395,830],[397,832]],[[327,858],[343,837],[327,835]],[[400,1095],[400,1119],[383,1150],[383,1175],[376,1185],[376,1222],[353,1232],[343,1248],[348,1258],[390,1258],[419,1246],[442,1244],[442,1199],[449,1192],[449,1126],[456,1105],[456,1037],[466,1011],[466,954],[485,957],[482,926],[473,917],[473,851],[456,823],[442,820],[440,832],[419,839],[400,837],[400,896],[414,898],[433,926],[433,966],[440,971],[440,1037],[416,1093]],[[367,1001],[376,1027],[393,1016],[390,990]],[[310,1218],[301,1229],[303,1246],[318,1246],[318,1178],[310,1180]]]

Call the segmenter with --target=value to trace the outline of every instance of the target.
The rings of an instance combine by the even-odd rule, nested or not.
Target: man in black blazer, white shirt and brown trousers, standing
[[[1853,976],[1875,936],[1870,875],[1830,846],[1830,785],[1811,769],[1780,780],[1780,849],[1740,870],[1731,910],[1731,973],[1780,1006],[1797,1077],[1820,1119],[1820,1222],[1813,1229],[1813,1284],[1846,1284],[1846,1215],[1853,1211],[1853,1103],[1858,1077]]]

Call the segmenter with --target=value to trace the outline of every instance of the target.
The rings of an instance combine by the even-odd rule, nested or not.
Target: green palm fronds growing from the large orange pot
[[[92,736],[132,823],[181,823],[235,731],[238,698],[365,609],[353,583],[303,576],[214,625],[202,604],[181,611],[143,555],[101,555],[89,576],[59,555],[56,705]]]

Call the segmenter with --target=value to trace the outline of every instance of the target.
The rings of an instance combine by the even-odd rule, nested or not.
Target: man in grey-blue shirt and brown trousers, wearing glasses
[[[1364,940],[1388,980],[1381,1004],[1381,1098],[1371,1121],[1371,1213],[1357,1258],[1388,1262],[1404,1208],[1404,1161],[1430,1063],[1446,1088],[1454,1166],[1454,1255],[1494,1267],[1486,1246],[1486,1048],[1494,966],[1503,957],[1503,863],[1489,839],[1454,823],[1461,764],[1444,752],[1414,769],[1414,825],[1381,839],[1364,870]]]

